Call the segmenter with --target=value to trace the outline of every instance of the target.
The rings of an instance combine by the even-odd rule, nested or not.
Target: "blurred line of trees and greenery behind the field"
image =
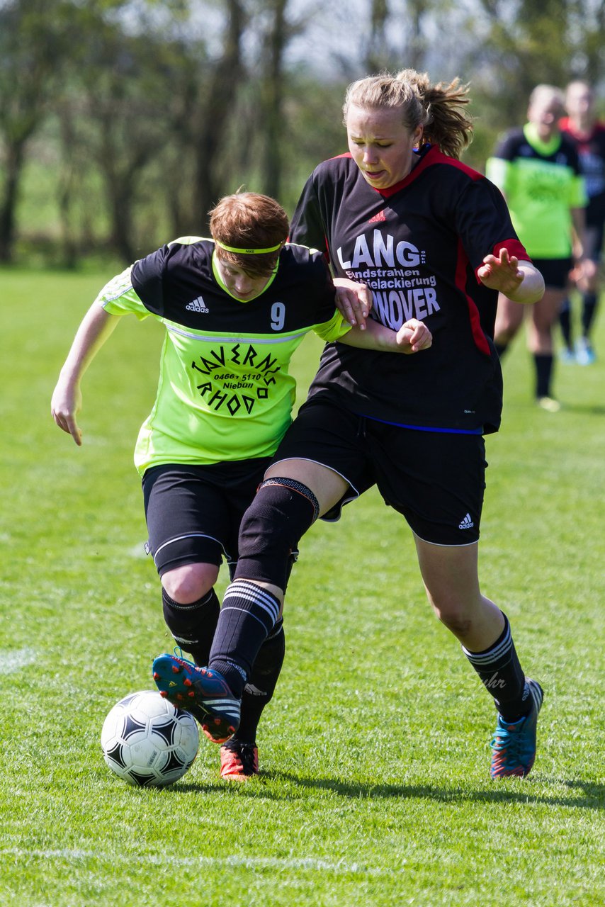
[[[541,82],[599,85],[605,0],[0,0],[0,262],[131,262],[244,185],[291,212],[346,83],[460,75],[483,169]],[[28,199],[34,202],[27,204]]]

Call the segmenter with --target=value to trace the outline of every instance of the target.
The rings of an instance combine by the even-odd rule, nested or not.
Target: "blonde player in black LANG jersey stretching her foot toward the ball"
[[[432,85],[414,71],[353,83],[344,106],[349,152],[320,164],[298,202],[292,239],[327,249],[337,276],[366,280],[368,325],[396,329],[414,314],[431,327],[433,346],[382,357],[326,346],[307,403],[242,520],[209,667],[169,655],[154,662],[169,698],[174,683],[210,711],[217,740],[238,726],[241,690],[280,613],[288,551],[317,515],[376,483],[414,532],[436,615],[495,700],[491,774],[532,768],[542,688],[525,677],[508,620],[479,588],[477,550],[483,434],[497,430],[502,409],[491,339],[497,294],[535,303],[544,286],[500,190],[457,160],[472,129],[467,101],[457,80]],[[344,307],[351,321],[363,320]]]

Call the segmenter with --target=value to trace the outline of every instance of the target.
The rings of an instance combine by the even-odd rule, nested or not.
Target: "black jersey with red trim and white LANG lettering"
[[[500,190],[430,146],[387,190],[369,186],[350,154],[307,180],[291,239],[326,252],[334,275],[363,281],[373,317],[411,317],[433,346],[410,356],[328,344],[309,395],[329,394],[369,418],[444,431],[498,430],[502,371],[492,342],[497,293],[476,277],[501,248],[530,260]]]

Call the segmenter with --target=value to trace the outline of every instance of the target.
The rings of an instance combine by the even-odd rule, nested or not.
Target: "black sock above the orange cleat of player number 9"
[[[283,620],[279,619],[260,647],[249,683],[244,688],[239,728],[233,736],[239,743],[256,743],[260,716],[277,686],[285,653],[286,635]]]

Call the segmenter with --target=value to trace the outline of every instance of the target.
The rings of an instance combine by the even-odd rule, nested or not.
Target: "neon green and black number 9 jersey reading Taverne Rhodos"
[[[160,463],[270,456],[291,422],[294,351],[309,331],[332,341],[350,330],[319,252],[287,244],[268,285],[245,302],[229,294],[213,254],[210,239],[177,239],[97,297],[112,315],[155,317],[166,329],[155,403],[135,447],[141,474]]]

